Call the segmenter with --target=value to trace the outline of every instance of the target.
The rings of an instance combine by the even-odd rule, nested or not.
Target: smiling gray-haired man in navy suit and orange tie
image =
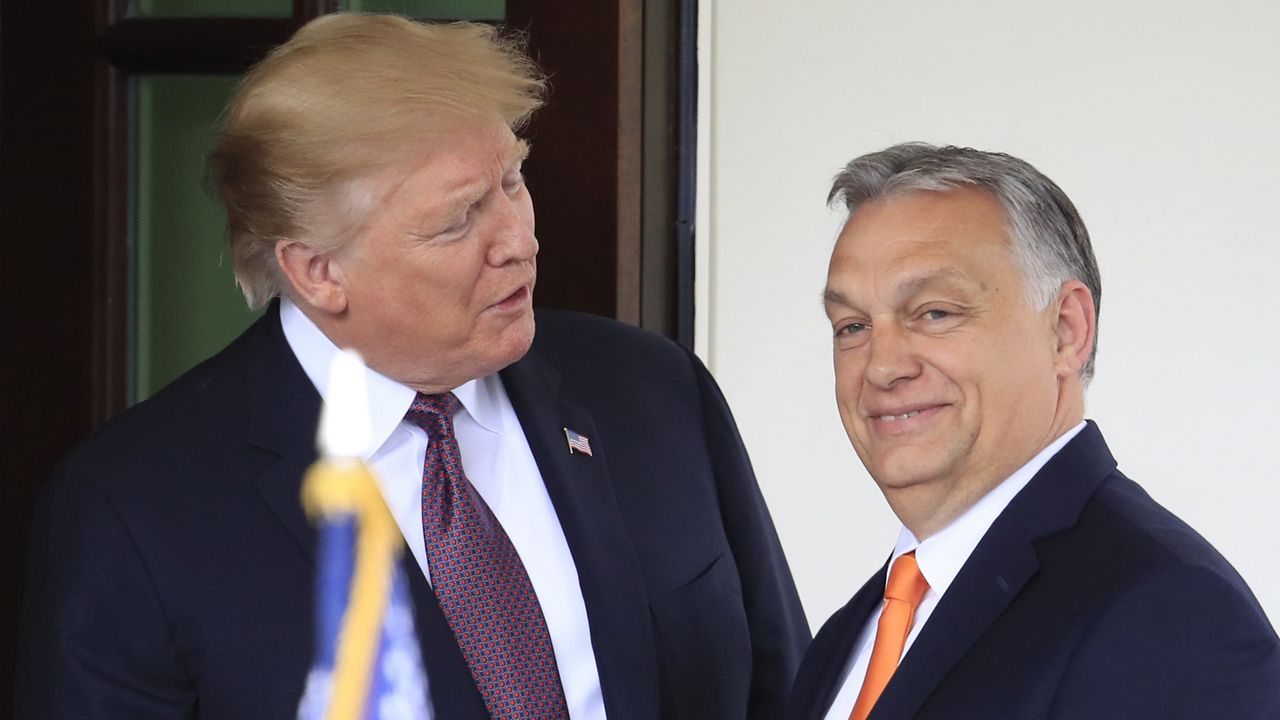
[[[998,152],[849,163],[828,268],[836,402],[902,523],[788,717],[1280,717],[1244,580],[1084,420],[1101,282],[1066,195]]]

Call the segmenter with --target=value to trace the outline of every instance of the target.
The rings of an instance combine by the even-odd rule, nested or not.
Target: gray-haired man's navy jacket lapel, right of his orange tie
[[[947,673],[1036,575],[1034,542],[1078,521],[1116,468],[1091,420],[1032,478],[983,536],[911,644],[868,720],[913,717]]]

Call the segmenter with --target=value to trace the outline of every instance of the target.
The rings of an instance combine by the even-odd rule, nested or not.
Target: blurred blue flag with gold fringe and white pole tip
[[[408,584],[398,561],[403,541],[360,460],[369,434],[365,404],[364,363],[343,354],[330,372],[321,459],[302,488],[319,542],[316,656],[298,720],[430,717]]]

